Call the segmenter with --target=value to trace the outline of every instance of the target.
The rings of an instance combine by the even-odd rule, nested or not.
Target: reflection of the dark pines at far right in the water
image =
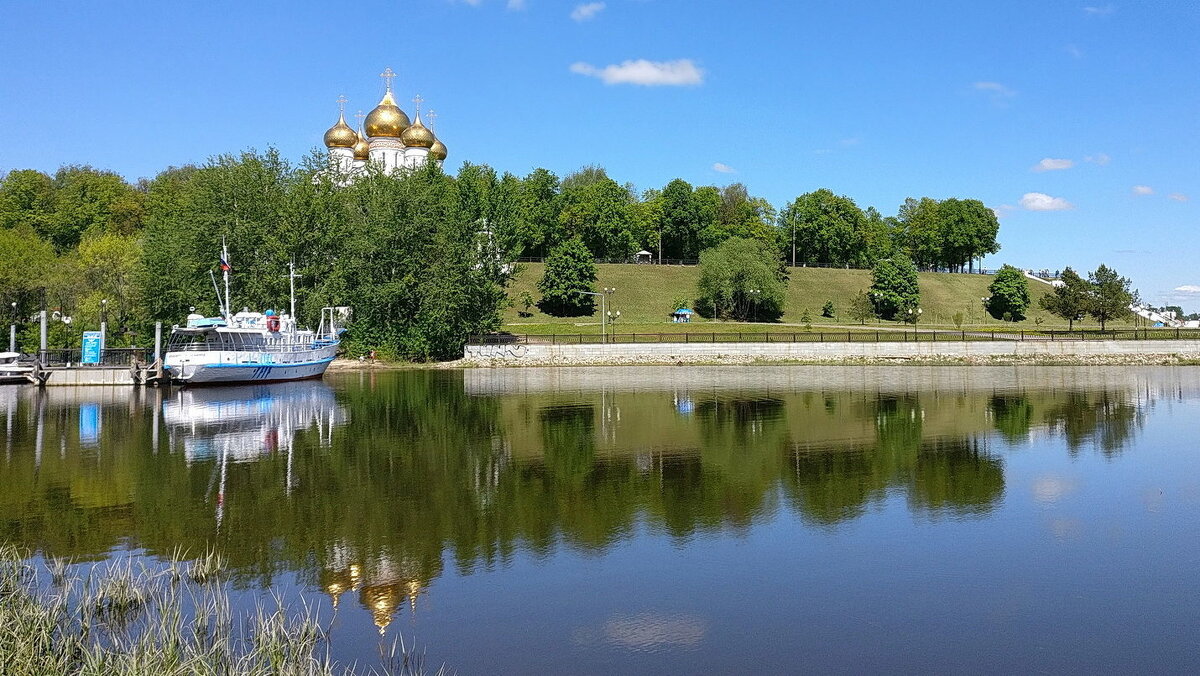
[[[1046,425],[1062,435],[1072,454],[1092,443],[1108,456],[1124,450],[1141,429],[1142,419],[1136,403],[1111,391],[1072,391],[1045,413]]]

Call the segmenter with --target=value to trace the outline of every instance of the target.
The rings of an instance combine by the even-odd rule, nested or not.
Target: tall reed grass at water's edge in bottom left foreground
[[[0,546],[0,674],[358,674],[332,663],[328,632],[307,604],[234,612],[208,552],[151,568],[132,557],[86,574],[49,560],[50,580],[17,549]],[[366,674],[425,674],[424,654],[401,644]],[[443,674],[439,669],[437,674]]]

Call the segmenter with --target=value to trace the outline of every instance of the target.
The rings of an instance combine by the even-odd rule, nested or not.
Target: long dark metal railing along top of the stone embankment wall
[[[470,336],[467,345],[599,345],[718,342],[1067,342],[1114,340],[1200,340],[1200,330],[1114,329],[1105,331],[1004,330],[844,330],[844,331],[688,331],[629,334],[491,334]]]

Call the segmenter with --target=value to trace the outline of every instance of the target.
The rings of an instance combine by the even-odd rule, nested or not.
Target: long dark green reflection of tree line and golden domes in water
[[[158,554],[216,544],[244,580],[269,582],[282,562],[390,616],[448,560],[466,573],[518,549],[600,551],[638,520],[673,537],[744,528],[779,495],[824,526],[895,490],[913,512],[983,514],[1004,490],[1002,461],[976,441],[990,427],[1021,439],[1037,420],[1072,449],[1090,441],[1120,449],[1141,424],[1116,393],[692,394],[690,415],[660,393],[634,400],[640,417],[620,400],[622,423],[604,417],[601,399],[619,393],[514,405],[466,394],[461,372],[372,378],[337,393],[350,424],[331,442],[296,436],[290,492],[278,454],[230,465],[220,530],[215,461],[188,463],[166,442],[155,449],[152,406],[106,407],[100,439],[86,448],[78,408],[47,411],[40,455],[31,426],[10,435],[0,538],[76,557],[103,556],[126,538]],[[17,418],[37,418],[31,402],[22,406]],[[634,430],[630,419],[650,429]]]

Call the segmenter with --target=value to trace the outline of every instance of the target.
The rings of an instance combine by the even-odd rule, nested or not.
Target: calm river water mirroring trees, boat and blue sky
[[[347,660],[398,632],[460,674],[1200,670],[1200,369],[8,387],[0,418],[0,539],[215,545]]]

